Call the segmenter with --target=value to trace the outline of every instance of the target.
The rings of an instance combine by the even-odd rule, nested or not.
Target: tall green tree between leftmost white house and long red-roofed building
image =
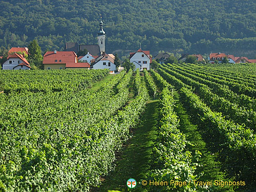
[[[34,39],[30,42],[29,46],[29,55],[28,55],[28,61],[30,65],[33,67],[37,67],[42,69],[42,53],[41,48],[37,44],[37,41]]]

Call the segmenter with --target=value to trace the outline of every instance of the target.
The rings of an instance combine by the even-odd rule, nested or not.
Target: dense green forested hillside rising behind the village
[[[106,51],[139,48],[156,54],[224,51],[253,58],[256,2],[251,0],[0,1],[0,47],[62,50],[65,42],[96,44],[100,14]],[[122,53],[121,53],[122,54]]]

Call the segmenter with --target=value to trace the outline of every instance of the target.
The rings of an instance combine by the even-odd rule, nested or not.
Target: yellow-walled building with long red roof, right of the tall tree
[[[48,51],[44,55],[42,64],[44,69],[65,69],[66,65],[77,63],[77,55],[74,51]]]

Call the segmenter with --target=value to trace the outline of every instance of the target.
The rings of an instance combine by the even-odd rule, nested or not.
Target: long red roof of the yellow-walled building
[[[44,55],[43,64],[66,64],[76,62],[76,53],[74,51],[48,51]],[[57,62],[55,62],[57,60]],[[59,61],[61,60],[61,61]]]

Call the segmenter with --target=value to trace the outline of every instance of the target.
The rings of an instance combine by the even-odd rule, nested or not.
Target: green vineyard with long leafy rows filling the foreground
[[[255,71],[1,70],[0,191],[255,191]]]

